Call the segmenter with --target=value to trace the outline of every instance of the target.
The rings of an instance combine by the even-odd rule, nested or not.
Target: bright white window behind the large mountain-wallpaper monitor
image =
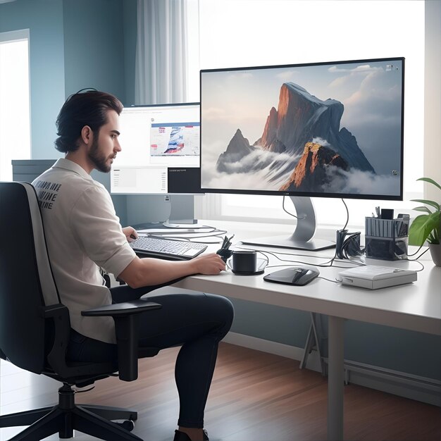
[[[199,68],[404,56],[404,199],[414,199],[423,192],[416,179],[423,175],[424,7],[423,1],[199,0]],[[319,225],[344,222],[335,199],[313,203]],[[364,225],[366,206],[380,202],[347,204],[351,225]],[[292,222],[282,197],[206,194],[196,206],[198,218]]]

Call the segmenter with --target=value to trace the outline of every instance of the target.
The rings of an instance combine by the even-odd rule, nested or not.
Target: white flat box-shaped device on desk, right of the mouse
[[[416,281],[416,271],[400,270],[387,266],[366,265],[340,271],[338,278],[343,285],[378,290]]]

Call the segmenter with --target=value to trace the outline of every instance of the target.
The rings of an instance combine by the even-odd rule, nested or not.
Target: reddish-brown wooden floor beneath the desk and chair
[[[178,416],[174,363],[178,349],[140,361],[139,378],[98,381],[77,402],[133,407],[134,433],[144,440],[173,440]],[[48,406],[58,383],[1,364],[1,414]],[[320,373],[300,370],[299,361],[222,343],[205,423],[210,440],[294,441],[326,439],[327,383]],[[348,385],[344,390],[347,440],[441,440],[440,408]],[[7,440],[19,428],[0,430]],[[58,440],[51,436],[48,440]],[[92,440],[75,433],[75,440]]]

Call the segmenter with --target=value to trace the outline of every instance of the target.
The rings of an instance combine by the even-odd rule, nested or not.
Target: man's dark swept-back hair
[[[78,139],[85,125],[92,132],[99,132],[101,126],[107,123],[107,111],[114,110],[118,115],[123,110],[123,104],[118,98],[106,92],[95,89],[82,89],[70,95],[63,104],[56,118],[55,148],[63,153],[78,149]]]

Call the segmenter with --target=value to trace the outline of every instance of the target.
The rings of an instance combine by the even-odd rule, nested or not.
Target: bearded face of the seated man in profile
[[[94,164],[94,168],[103,173],[108,173],[111,170],[113,159],[116,158],[118,151],[121,151],[118,129],[118,113],[109,110],[107,123],[102,125],[96,134],[94,133],[94,139],[89,149],[89,159]]]

